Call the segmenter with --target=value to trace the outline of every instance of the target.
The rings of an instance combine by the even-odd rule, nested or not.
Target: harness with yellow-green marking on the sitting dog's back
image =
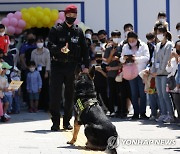
[[[79,99],[77,99],[77,102],[75,104],[75,110],[78,113],[78,120],[80,120],[80,116],[81,116],[82,112],[84,111],[84,109],[90,108],[98,103],[98,100],[96,98],[88,99],[87,101],[85,101],[83,103],[82,103],[82,101],[83,100],[81,100],[79,98]]]

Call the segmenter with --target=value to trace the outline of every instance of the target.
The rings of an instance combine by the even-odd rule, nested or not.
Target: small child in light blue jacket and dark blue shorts
[[[29,94],[30,100],[30,109],[29,112],[37,112],[38,109],[38,101],[39,101],[39,93],[42,88],[42,79],[40,73],[35,70],[36,64],[34,61],[30,61],[29,70],[30,72],[27,74],[27,92]]]

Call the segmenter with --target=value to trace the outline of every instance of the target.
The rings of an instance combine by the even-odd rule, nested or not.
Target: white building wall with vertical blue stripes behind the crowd
[[[173,40],[177,40],[175,25],[180,22],[180,0],[0,0],[0,12],[36,6],[63,10],[69,3],[77,5],[78,18],[95,32],[106,29],[110,33],[118,29],[123,34],[123,25],[132,23],[144,41],[158,12],[167,11]]]

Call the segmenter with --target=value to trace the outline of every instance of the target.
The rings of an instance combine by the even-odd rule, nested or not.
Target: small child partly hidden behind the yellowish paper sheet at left
[[[13,72],[11,72],[10,75],[11,80],[20,81],[21,80],[20,76],[21,74],[19,69],[16,66],[14,66]],[[18,114],[20,113],[20,89],[14,91],[13,97],[14,97],[14,101],[12,104],[12,112]]]

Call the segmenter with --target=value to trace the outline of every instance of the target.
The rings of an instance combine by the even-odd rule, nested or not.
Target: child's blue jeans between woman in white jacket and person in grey
[[[149,102],[151,107],[151,116],[157,116],[157,110],[160,109],[157,94],[149,94]]]

